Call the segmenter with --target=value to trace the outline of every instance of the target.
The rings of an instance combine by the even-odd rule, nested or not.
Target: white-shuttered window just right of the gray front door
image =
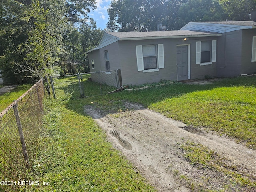
[[[196,64],[210,65],[216,62],[217,41],[196,42]]]

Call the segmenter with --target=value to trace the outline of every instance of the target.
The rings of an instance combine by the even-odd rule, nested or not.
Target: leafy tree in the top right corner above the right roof
[[[228,14],[227,20],[249,20],[249,13],[256,10],[255,0],[220,0],[220,5]]]

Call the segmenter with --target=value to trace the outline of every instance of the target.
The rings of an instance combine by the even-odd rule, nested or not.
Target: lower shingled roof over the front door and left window
[[[89,50],[87,53],[96,49],[100,49],[107,45],[110,45],[116,41],[127,40],[147,40],[147,39],[166,39],[166,38],[188,38],[188,37],[209,37],[209,36],[221,36],[220,33],[215,32],[198,32],[198,31],[148,31],[148,32],[105,32],[97,48]]]

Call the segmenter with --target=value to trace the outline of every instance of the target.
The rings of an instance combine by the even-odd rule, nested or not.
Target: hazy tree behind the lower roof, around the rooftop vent
[[[162,24],[169,30],[174,30],[178,10],[186,2],[187,0],[112,1],[108,9],[107,27],[112,31],[155,31],[156,22],[162,20]]]

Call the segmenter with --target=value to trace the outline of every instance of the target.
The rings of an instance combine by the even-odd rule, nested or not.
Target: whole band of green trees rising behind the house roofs
[[[130,0],[112,1],[108,29],[155,31],[162,21],[168,30],[179,30],[190,21],[249,20],[255,0]]]

